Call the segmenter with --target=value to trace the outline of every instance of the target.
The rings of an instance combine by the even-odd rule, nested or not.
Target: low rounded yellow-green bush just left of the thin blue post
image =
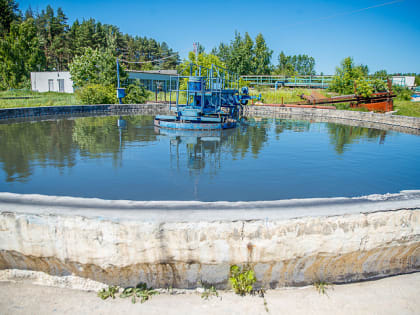
[[[87,84],[76,91],[76,98],[86,105],[115,104],[117,92],[112,85]]]

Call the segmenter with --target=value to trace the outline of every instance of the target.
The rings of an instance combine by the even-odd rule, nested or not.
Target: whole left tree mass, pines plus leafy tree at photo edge
[[[92,18],[69,25],[63,10],[50,5],[22,13],[14,0],[0,0],[0,89],[28,88],[31,71],[67,71],[86,49],[146,62],[132,65],[134,70],[174,69],[179,63],[165,42],[123,34]]]

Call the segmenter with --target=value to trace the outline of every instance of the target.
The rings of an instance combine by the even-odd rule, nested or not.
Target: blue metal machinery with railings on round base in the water
[[[180,92],[186,95],[185,104],[179,104]],[[253,98],[256,97],[249,95],[247,87],[239,93],[237,74],[216,65],[209,69],[191,63],[190,76],[177,77],[175,115],[156,116],[155,126],[189,130],[234,128],[242,105]]]

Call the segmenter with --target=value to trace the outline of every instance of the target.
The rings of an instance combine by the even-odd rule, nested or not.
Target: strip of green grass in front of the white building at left
[[[3,99],[13,97],[30,97],[29,99]],[[58,92],[33,92],[29,90],[10,90],[0,92],[0,108],[12,107],[38,107],[79,105],[74,94]]]

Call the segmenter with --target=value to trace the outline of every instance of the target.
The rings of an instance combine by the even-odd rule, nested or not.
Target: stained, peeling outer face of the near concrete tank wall
[[[249,264],[258,284],[272,288],[420,270],[420,208],[190,222],[182,215],[153,221],[141,212],[115,219],[1,210],[0,269],[178,288],[199,281],[227,287],[232,264]]]

